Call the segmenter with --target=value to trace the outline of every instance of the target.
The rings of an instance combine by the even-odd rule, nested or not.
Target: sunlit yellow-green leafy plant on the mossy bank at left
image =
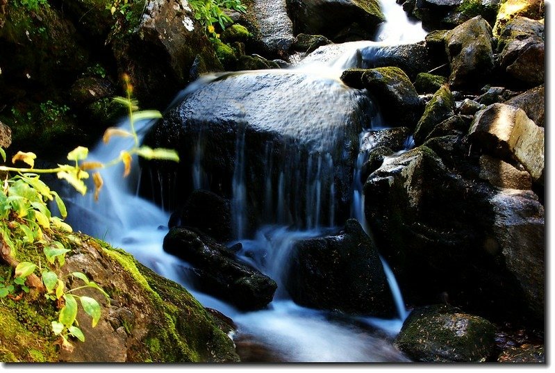
[[[56,301],[60,307],[58,320],[52,320],[52,331],[60,335],[61,345],[71,348],[69,336],[78,340],[85,340],[85,335],[78,328],[76,315],[78,302],[84,312],[92,318],[92,326],[95,326],[101,315],[101,308],[98,301],[91,297],[76,295],[74,292],[83,288],[97,289],[101,294],[106,295],[97,283],[90,281],[81,272],[73,272],[69,276],[79,279],[83,285],[67,290],[63,279],[53,272],[53,267],[65,264],[65,255],[70,251],[63,243],[53,239],[56,231],[65,231],[71,236],[72,228],[63,219],[67,216],[67,210],[63,200],[58,193],[51,190],[47,184],[40,179],[40,174],[56,174],[59,179],[64,179],[72,185],[78,192],[85,194],[88,190],[85,180],[89,178],[89,172],[124,164],[124,176],[131,170],[131,160],[134,154],[148,159],[165,159],[179,161],[175,151],[169,149],[151,149],[140,146],[138,135],[135,132],[135,122],[138,120],[159,118],[157,111],[138,111],[137,101],[131,98],[133,88],[129,83],[129,76],[124,76],[126,97],[115,97],[115,101],[122,103],[128,109],[130,130],[110,128],[106,130],[103,140],[108,142],[112,136],[130,136],[135,142],[131,149],[122,149],[119,157],[103,164],[88,162],[88,149],[76,147],[67,154],[69,164],[58,165],[51,169],[35,169],[36,155],[31,152],[19,151],[12,158],[12,163],[23,162],[27,167],[0,166],[0,172],[6,174],[3,188],[0,189],[0,249],[1,259],[14,267],[13,276],[7,278],[0,277],[0,299],[10,297],[11,299],[21,299],[22,292],[30,292],[30,288],[43,288],[44,296],[51,301]],[[54,106],[51,101],[41,106],[44,113],[56,113],[56,110],[64,110]],[[48,119],[48,118],[47,118]],[[0,156],[6,162],[6,152],[0,148]],[[10,176],[13,174],[13,176]],[[95,198],[103,185],[99,172],[92,175],[95,187]],[[60,211],[60,217],[54,216],[49,209],[49,203],[56,203]],[[73,237],[75,240],[76,238]],[[30,258],[32,261],[17,262],[17,254],[28,247],[32,247],[35,252],[42,249],[42,256]],[[34,259],[34,260],[33,260]],[[40,279],[35,272],[40,274]],[[37,278],[39,283],[34,285],[31,279]]]

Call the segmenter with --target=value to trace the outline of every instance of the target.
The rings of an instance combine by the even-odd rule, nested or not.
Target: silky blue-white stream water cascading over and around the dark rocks
[[[327,62],[307,60],[296,67],[297,71],[317,72],[338,77],[347,67],[360,65],[361,59],[372,54],[376,46],[386,43],[401,44],[417,42],[424,39],[424,31],[420,24],[408,22],[401,6],[395,0],[382,0],[382,8],[388,22],[381,27],[377,42],[346,43],[340,52],[334,52]],[[348,45],[347,45],[348,44]],[[317,56],[318,53],[315,53]],[[366,56],[366,57],[365,57]],[[323,58],[326,60],[326,58]],[[315,69],[315,66],[318,68]],[[293,70],[295,71],[295,70]],[[181,100],[185,94],[206,84],[213,77],[205,77],[192,83],[185,92],[176,99]],[[239,121],[240,122],[240,121]],[[122,124],[125,126],[126,124]],[[147,131],[151,123],[141,122],[139,133]],[[241,127],[241,125],[240,125]],[[363,213],[364,199],[361,181],[361,167],[372,148],[368,141],[367,131],[381,128],[379,113],[373,113],[372,122],[360,135],[360,151],[353,171],[354,183],[351,187],[351,217],[361,222],[366,230]],[[207,135],[207,134],[204,134]],[[201,137],[199,136],[199,139]],[[120,149],[131,146],[130,139],[113,138],[109,145],[99,145],[91,153],[91,158],[106,162],[115,158]],[[270,144],[268,145],[270,147]],[[192,184],[195,189],[206,188],[208,175],[202,167],[200,140],[194,147],[192,165]],[[107,240],[115,247],[122,247],[130,252],[141,263],[147,265],[158,274],[181,283],[201,301],[204,306],[215,308],[233,319],[238,325],[238,336],[248,336],[261,345],[265,345],[272,353],[285,361],[406,361],[406,357],[392,346],[392,337],[398,333],[407,311],[401,297],[401,291],[395,283],[395,277],[387,263],[383,267],[395,299],[398,317],[392,320],[381,320],[374,317],[355,317],[337,315],[323,310],[313,310],[298,306],[290,300],[282,285],[283,274],[288,266],[288,258],[293,242],[306,238],[314,238],[326,233],[337,232],[340,227],[336,222],[335,201],[336,190],[333,179],[333,159],[329,154],[311,154],[306,166],[306,174],[295,169],[296,160],[290,167],[279,170],[278,182],[270,178],[273,167],[280,167],[267,148],[267,175],[260,183],[265,185],[264,216],[268,224],[260,226],[254,236],[246,238],[245,204],[247,203],[245,185],[245,131],[238,131],[235,144],[235,169],[233,171],[233,232],[236,240],[241,242],[238,251],[241,260],[253,265],[260,272],[267,274],[278,283],[279,287],[272,303],[265,310],[242,312],[224,301],[197,292],[189,286],[183,272],[179,268],[187,266],[179,258],[165,253],[162,242],[167,233],[169,213],[163,208],[137,196],[138,161],[133,160],[134,173],[128,179],[122,179],[122,167],[103,170],[105,187],[98,202],[90,196],[72,197],[69,222],[75,229]],[[297,179],[296,179],[297,178]],[[297,200],[288,201],[294,196],[291,188],[295,188],[295,180],[304,180],[304,208],[294,210]],[[163,185],[163,183],[160,183]],[[275,189],[276,188],[276,189]],[[165,191],[160,190],[160,194]],[[272,201],[272,195],[277,200]],[[286,203],[287,202],[287,203]],[[290,203],[289,203],[290,202]],[[304,211],[303,217],[298,217]],[[72,217],[77,217],[72,220]],[[306,222],[301,228],[295,221]],[[239,338],[239,337],[236,337]]]

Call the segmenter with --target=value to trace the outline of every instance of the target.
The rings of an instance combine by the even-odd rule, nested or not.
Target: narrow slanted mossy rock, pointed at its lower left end
[[[422,144],[433,129],[448,117],[454,115],[455,101],[453,94],[447,88],[442,87],[433,94],[432,99],[426,103],[424,114],[416,124],[414,140],[416,144]]]

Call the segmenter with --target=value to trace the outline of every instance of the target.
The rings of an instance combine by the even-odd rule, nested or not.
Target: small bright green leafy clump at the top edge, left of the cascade
[[[226,15],[222,9],[247,12],[240,0],[191,0],[189,3],[194,11],[194,19],[206,27],[206,33],[212,38],[219,38],[215,25],[223,31],[226,26],[233,23],[231,17]]]

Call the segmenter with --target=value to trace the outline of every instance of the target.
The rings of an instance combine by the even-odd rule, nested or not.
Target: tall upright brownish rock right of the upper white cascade
[[[451,88],[481,87],[493,70],[491,27],[481,16],[456,26],[445,35]]]

